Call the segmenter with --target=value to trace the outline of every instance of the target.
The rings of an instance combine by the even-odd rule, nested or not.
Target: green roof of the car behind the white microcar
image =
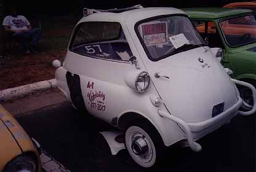
[[[191,18],[204,18],[204,19],[216,19],[216,18],[223,18],[229,17],[231,15],[240,15],[253,12],[249,9],[228,9],[228,8],[187,8],[182,9],[188,14]]]

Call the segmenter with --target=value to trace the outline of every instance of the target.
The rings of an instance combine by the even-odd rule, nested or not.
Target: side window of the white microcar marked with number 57
[[[77,26],[70,50],[86,57],[129,61],[132,52],[117,22],[84,22]]]

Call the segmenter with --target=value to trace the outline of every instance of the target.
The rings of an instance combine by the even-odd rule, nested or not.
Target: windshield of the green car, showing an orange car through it
[[[244,15],[220,22],[226,43],[231,47],[256,41],[256,20],[254,15]]]

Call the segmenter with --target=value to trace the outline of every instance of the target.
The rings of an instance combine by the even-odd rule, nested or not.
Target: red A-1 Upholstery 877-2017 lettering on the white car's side
[[[87,92],[87,98],[89,98],[89,107],[92,109],[97,109],[97,111],[105,112],[105,93],[94,89],[94,82],[90,81],[87,83],[87,88],[89,88],[89,92]]]

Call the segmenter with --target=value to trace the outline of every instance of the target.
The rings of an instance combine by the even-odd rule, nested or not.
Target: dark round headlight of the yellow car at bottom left
[[[36,162],[33,158],[28,157],[27,155],[21,155],[14,158],[9,162],[4,168],[3,172],[35,172],[36,171]]]

